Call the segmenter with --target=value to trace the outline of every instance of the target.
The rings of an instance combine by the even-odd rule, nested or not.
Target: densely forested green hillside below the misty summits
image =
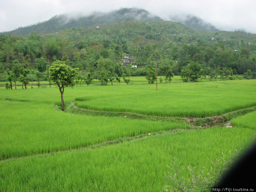
[[[91,73],[94,78],[102,71],[119,77],[146,75],[148,68],[155,68],[154,61],[159,75],[172,70],[184,81],[197,80],[200,73],[212,79],[244,73],[251,78],[256,71],[255,43],[256,35],[245,31],[196,31],[170,21],[122,21],[44,35],[1,34],[0,78],[6,81],[7,69],[13,71],[16,65],[44,72],[56,60],[69,60],[83,76]],[[123,66],[124,53],[136,60],[138,69]]]

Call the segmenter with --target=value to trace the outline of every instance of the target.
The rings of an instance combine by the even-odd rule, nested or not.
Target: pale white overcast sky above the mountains
[[[46,21],[54,15],[89,15],[121,7],[146,9],[164,20],[170,15],[192,14],[220,30],[256,33],[256,0],[0,0],[0,32]]]

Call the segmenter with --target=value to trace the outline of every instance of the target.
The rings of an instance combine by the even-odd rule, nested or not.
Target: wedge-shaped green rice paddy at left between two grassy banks
[[[189,127],[185,123],[75,115],[36,102],[0,101],[0,105],[5,109],[0,111],[0,160]]]

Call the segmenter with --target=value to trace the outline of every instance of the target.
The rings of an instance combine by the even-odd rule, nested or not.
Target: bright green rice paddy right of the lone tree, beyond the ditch
[[[207,117],[256,106],[255,80],[123,85],[77,96],[80,108],[155,116]],[[243,99],[241,99],[243,98]],[[84,100],[84,101],[82,101]]]

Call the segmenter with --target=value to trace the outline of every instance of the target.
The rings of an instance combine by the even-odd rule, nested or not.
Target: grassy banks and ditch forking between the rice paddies
[[[214,117],[205,117],[205,118],[190,118],[190,117],[156,117],[156,116],[148,116],[148,115],[141,115],[137,113],[129,113],[129,112],[104,112],[104,111],[94,111],[94,110],[88,110],[88,109],[82,109],[82,108],[77,108],[75,106],[75,102],[71,102],[69,105],[65,107],[65,110],[62,111],[60,106],[54,106],[55,110],[59,110],[60,112],[65,112],[65,113],[74,113],[74,114],[80,114],[80,115],[90,115],[90,116],[107,116],[107,117],[123,117],[123,118],[130,118],[130,119],[143,119],[143,120],[148,120],[148,121],[169,121],[172,123],[186,123],[190,124],[190,129],[174,129],[174,130],[166,130],[166,131],[159,131],[155,133],[147,133],[147,134],[141,134],[141,135],[136,135],[133,137],[123,137],[123,138],[118,138],[112,141],[104,141],[102,143],[90,145],[87,147],[78,147],[78,148],[73,148],[69,150],[62,150],[62,151],[57,151],[57,152],[49,152],[49,153],[44,153],[44,154],[34,154],[34,155],[29,155],[29,156],[22,156],[22,157],[13,157],[13,158],[7,158],[5,160],[1,161],[9,161],[9,160],[14,160],[14,159],[23,159],[23,158],[28,158],[31,156],[47,156],[47,155],[54,155],[56,153],[68,153],[70,151],[74,150],[85,150],[89,148],[99,148],[102,146],[107,146],[111,144],[118,144],[118,143],[123,143],[125,141],[132,141],[134,139],[140,139],[144,137],[151,137],[154,135],[163,135],[167,133],[177,133],[180,131],[194,131],[197,129],[206,129],[214,126],[222,126],[222,127],[232,127],[230,126],[230,120],[233,118],[236,118],[241,115],[245,115],[246,113],[256,111],[256,106],[251,107],[251,108],[245,108],[229,113],[225,113],[223,115],[219,116],[214,116]]]

